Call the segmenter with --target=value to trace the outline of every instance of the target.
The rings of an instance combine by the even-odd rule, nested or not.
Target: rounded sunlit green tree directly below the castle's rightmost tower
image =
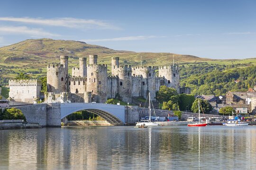
[[[172,96],[178,95],[176,89],[161,85],[159,91],[156,92],[156,99],[158,102],[168,102],[172,100]],[[173,97],[173,100],[176,99]],[[175,101],[174,101],[175,102]]]

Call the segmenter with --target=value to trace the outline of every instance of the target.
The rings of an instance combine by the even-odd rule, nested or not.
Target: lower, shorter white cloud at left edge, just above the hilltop
[[[37,28],[28,28],[27,26],[0,26],[0,34],[28,34],[33,37],[59,36],[58,34],[48,33]]]

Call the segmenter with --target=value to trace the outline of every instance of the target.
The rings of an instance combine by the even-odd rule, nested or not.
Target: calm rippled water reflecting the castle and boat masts
[[[256,126],[0,130],[0,169],[256,169]]]

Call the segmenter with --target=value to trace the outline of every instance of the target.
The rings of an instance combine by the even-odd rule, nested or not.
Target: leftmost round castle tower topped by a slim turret
[[[60,62],[47,66],[47,92],[68,92],[68,56],[60,56]]]

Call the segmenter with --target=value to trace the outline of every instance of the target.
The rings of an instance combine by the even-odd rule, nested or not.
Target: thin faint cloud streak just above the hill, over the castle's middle
[[[107,38],[107,39],[87,39],[81,40],[83,42],[108,42],[108,41],[131,41],[131,40],[145,40],[148,38],[164,38],[165,36],[128,36],[128,37],[118,37],[118,38]]]

